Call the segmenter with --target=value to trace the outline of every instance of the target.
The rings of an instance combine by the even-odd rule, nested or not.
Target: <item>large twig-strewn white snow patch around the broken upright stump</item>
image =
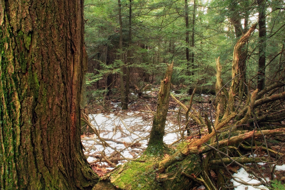
[[[114,153],[115,149],[122,151],[121,155],[125,158],[132,159],[133,156],[137,158],[138,155],[147,147],[148,139],[140,140],[147,137],[151,131],[152,119],[144,120],[142,117],[136,116],[139,112],[129,112],[126,116],[115,116],[114,114],[104,115],[104,114],[94,114],[89,115],[91,119],[91,124],[96,127],[100,132],[100,137],[105,139],[113,139],[120,141],[115,143],[114,141],[106,140],[106,142],[112,147],[101,145],[101,142],[98,137],[94,134],[91,137],[84,137],[82,144],[85,147],[85,155],[89,155],[88,162],[97,160],[90,155],[99,155],[100,152],[104,151],[105,156],[108,157]],[[171,122],[166,122],[165,125],[165,136],[164,142],[166,144],[171,144],[180,138],[179,127],[173,125]],[[141,146],[126,148],[123,142],[125,143],[134,143],[138,142]],[[124,150],[125,149],[125,150]],[[107,164],[107,163],[103,163]],[[122,164],[119,162],[119,164]]]

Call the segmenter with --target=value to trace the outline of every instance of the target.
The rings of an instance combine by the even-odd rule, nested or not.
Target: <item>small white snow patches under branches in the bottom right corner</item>
[[[256,155],[254,155],[256,156]],[[259,165],[264,165],[265,163],[258,163]],[[278,171],[285,171],[285,164],[283,164],[282,166],[276,166],[276,169],[275,170],[278,170]],[[238,173],[235,173],[233,174],[234,177],[239,177],[241,178],[243,181],[246,181],[247,183],[259,183],[260,181],[256,180],[256,179],[253,179],[253,177],[248,173],[246,172],[243,168],[240,168],[238,170]],[[276,176],[275,176],[276,177]],[[237,178],[236,178],[237,179]],[[239,179],[237,179],[239,180]],[[267,181],[270,181],[269,178],[266,178]],[[234,181],[233,179],[230,180],[231,182],[233,182],[233,185],[236,186],[235,187],[235,190],[245,190],[246,187],[248,188],[248,190],[256,190],[256,189],[267,189],[267,187],[261,185],[259,186],[259,188],[255,188],[253,186],[246,186],[246,185],[243,185],[241,183],[238,183],[236,181]]]

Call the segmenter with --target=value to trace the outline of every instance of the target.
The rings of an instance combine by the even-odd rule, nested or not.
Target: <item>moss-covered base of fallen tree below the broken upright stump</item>
[[[170,151],[164,152],[165,155],[167,153],[171,154]],[[165,173],[159,173],[158,164],[163,159],[165,159],[163,155],[144,155],[136,161],[118,166],[113,172],[102,178],[92,190],[182,190],[196,184],[189,177],[183,175],[182,172],[189,175],[200,173],[202,167],[199,155],[188,156],[183,161],[168,167]]]

